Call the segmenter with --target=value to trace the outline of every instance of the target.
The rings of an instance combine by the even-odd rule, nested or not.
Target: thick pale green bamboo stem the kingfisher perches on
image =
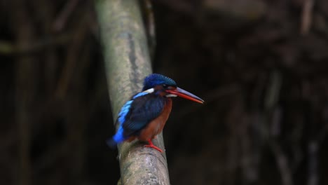
[[[151,62],[138,1],[97,0],[109,97],[114,118],[131,95],[142,89]],[[117,125],[116,125],[117,126]],[[154,144],[164,149],[163,137]],[[165,153],[140,142],[118,146],[121,184],[170,184]]]

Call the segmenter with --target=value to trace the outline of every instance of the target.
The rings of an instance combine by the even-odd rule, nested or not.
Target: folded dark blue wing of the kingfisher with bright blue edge
[[[165,97],[153,93],[137,93],[132,100],[126,102],[118,114],[118,128],[113,140],[116,143],[123,142],[131,135],[146,127],[146,125],[157,118],[165,106]]]

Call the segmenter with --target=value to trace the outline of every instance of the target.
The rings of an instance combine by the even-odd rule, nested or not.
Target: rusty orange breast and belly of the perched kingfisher
[[[142,129],[137,138],[140,141],[148,141],[149,139],[153,139],[156,135],[162,132],[166,121],[168,121],[168,117],[170,116],[172,109],[172,99],[168,98],[163,111],[160,113],[160,116],[153,119],[146,128]]]

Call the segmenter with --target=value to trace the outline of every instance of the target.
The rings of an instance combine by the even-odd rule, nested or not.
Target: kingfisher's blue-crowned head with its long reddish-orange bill
[[[158,93],[166,97],[183,97],[200,104],[204,103],[204,100],[200,99],[196,95],[193,95],[182,88],[177,87],[177,83],[167,76],[161,74],[151,74],[144,78],[144,88],[143,91],[149,90],[153,93]]]

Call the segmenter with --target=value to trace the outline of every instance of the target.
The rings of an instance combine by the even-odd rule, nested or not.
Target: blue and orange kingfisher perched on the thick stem
[[[172,97],[183,97],[203,104],[204,100],[182,88],[167,76],[150,74],[144,78],[142,92],[133,95],[125,102],[118,114],[116,124],[119,123],[116,134],[107,140],[111,147],[121,142],[131,142],[139,139],[149,142],[144,145],[163,153],[162,149],[153,145],[151,139],[162,132],[172,109]]]

